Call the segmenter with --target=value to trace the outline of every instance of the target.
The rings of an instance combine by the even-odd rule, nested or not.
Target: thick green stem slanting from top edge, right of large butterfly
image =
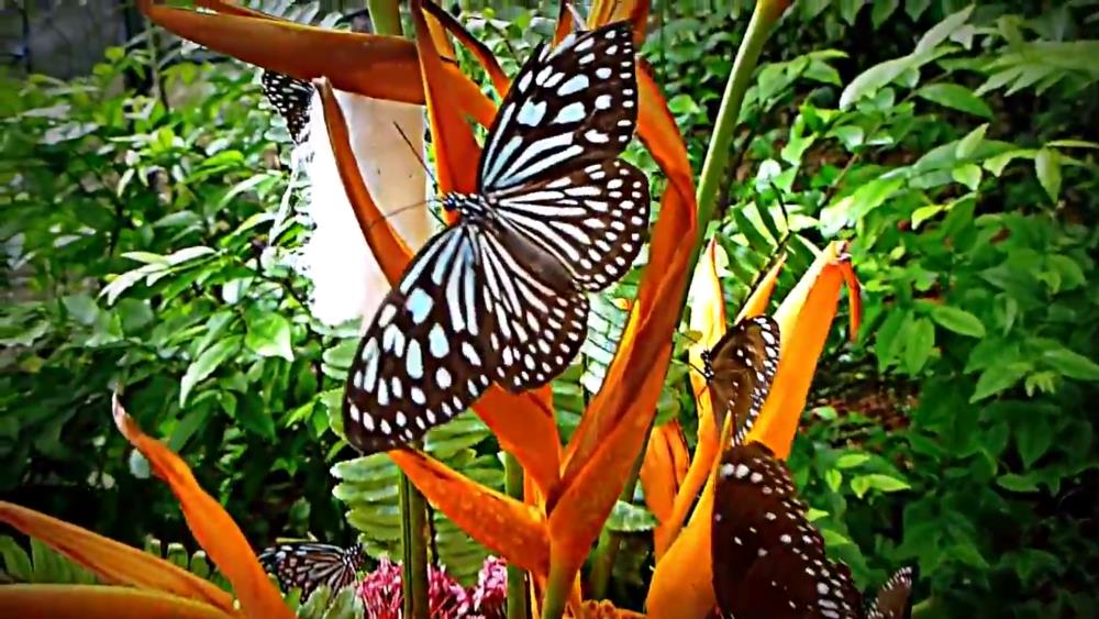
[[[717,210],[718,192],[729,166],[729,151],[732,147],[733,132],[741,115],[741,106],[744,103],[744,93],[747,92],[752,82],[752,74],[759,62],[759,54],[767,42],[771,26],[775,25],[788,5],[788,0],[758,0],[755,11],[752,12],[752,21],[748,22],[747,31],[741,41],[741,46],[736,51],[736,59],[733,60],[733,70],[725,84],[725,92],[721,98],[721,107],[718,109],[718,118],[713,124],[713,137],[710,139],[710,145],[706,152],[702,176],[698,184],[696,196],[698,199],[698,237],[688,263],[692,269],[702,252],[702,241],[710,219],[713,218]]]

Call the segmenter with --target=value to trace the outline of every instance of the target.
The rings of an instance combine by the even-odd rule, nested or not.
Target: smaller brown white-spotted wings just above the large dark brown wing
[[[758,316],[736,323],[710,352],[718,428],[733,416],[733,442],[741,443],[755,423],[778,368],[778,323]]]

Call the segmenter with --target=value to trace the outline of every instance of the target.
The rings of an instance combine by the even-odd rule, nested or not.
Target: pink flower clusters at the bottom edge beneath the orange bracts
[[[502,560],[485,560],[477,585],[466,589],[434,565],[428,567],[428,601],[432,619],[503,619],[508,568]],[[401,619],[401,566],[382,559],[378,568],[363,578],[358,596],[365,619]]]

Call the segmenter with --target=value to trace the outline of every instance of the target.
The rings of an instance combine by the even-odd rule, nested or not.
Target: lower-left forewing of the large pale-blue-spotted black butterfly
[[[419,439],[488,387],[499,353],[485,336],[496,325],[477,233],[459,222],[429,240],[359,342],[343,421],[364,454]]]

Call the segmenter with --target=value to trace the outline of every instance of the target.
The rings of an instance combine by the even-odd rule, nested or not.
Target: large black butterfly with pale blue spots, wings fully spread
[[[364,453],[422,436],[492,383],[545,385],[576,356],[588,292],[629,270],[648,225],[645,175],[618,156],[637,121],[628,22],[537,46],[485,140],[460,219],[428,241],[359,342],[343,402]]]

